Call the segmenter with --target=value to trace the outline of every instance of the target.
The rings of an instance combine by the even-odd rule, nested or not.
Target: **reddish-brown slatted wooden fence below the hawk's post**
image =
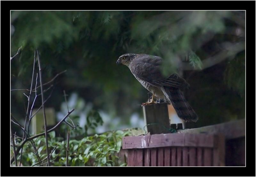
[[[245,120],[173,134],[126,136],[123,150],[128,166],[245,166]]]

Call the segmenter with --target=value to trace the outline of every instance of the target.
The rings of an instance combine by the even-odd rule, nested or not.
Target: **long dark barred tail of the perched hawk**
[[[182,120],[185,122],[196,122],[198,120],[196,112],[188,104],[188,101],[185,99],[180,89],[164,87],[163,91],[167,99],[171,101],[176,113]]]

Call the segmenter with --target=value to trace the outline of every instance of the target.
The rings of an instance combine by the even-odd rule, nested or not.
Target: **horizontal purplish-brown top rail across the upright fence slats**
[[[169,133],[123,137],[123,149],[166,146],[214,147],[214,135]]]

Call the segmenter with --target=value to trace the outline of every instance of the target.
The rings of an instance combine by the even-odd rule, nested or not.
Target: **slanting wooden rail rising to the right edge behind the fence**
[[[245,136],[245,119],[225,122],[216,125],[210,125],[205,127],[200,127],[196,129],[183,129],[177,130],[177,133],[202,133],[207,132],[207,134],[222,134],[225,139],[234,139]]]

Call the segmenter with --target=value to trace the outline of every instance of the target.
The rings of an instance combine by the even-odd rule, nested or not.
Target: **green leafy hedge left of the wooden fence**
[[[98,124],[102,124],[102,119],[96,111],[90,111],[88,116],[88,128],[95,128]],[[65,124],[64,124],[65,125]],[[67,125],[65,125],[67,126]],[[75,130],[70,130],[70,132]],[[79,135],[84,136],[82,139],[70,138],[69,140],[69,166],[125,166],[125,159],[118,157],[117,153],[122,146],[122,137],[130,135],[130,131],[112,131],[103,134],[95,134],[93,136],[85,136],[80,129],[76,130]],[[48,134],[48,145],[51,151],[52,166],[65,166],[66,164],[66,148],[67,140],[62,137],[56,137],[55,131]],[[19,143],[17,141],[16,143]],[[46,146],[44,136],[40,136],[35,140],[39,157],[42,161],[41,165],[46,163]],[[23,148],[22,165],[23,166],[40,166],[35,150],[28,142]]]

